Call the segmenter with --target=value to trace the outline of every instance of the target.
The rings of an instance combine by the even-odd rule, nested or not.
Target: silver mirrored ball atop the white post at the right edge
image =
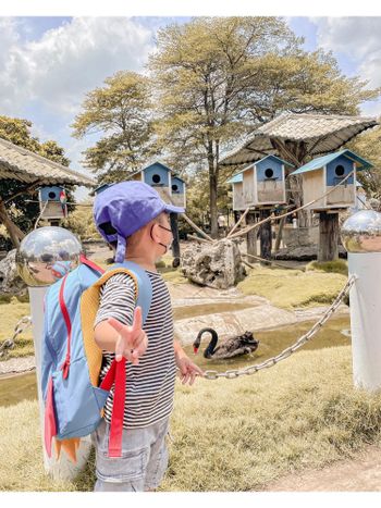
[[[348,252],[381,252],[381,213],[360,210],[351,215],[341,230]]]

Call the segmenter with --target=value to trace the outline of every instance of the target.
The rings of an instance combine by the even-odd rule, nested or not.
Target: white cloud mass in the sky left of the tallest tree
[[[29,100],[73,116],[84,94],[120,70],[139,71],[152,33],[126,17],[77,17],[21,42],[16,22],[0,18],[0,108],[17,114]]]

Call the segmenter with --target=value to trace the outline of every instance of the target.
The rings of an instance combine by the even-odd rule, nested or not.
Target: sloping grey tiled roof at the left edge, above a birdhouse
[[[58,162],[0,138],[0,179],[39,185],[96,185],[96,182]]]

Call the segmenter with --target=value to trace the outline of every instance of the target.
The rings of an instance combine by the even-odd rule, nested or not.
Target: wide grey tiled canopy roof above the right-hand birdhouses
[[[374,117],[337,114],[282,113],[257,129],[226,153],[222,165],[247,164],[263,157],[278,154],[273,140],[304,141],[309,157],[337,150],[362,131],[379,125]]]

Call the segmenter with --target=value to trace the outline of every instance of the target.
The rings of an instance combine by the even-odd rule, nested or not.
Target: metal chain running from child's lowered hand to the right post
[[[328,321],[332,314],[336,311],[340,303],[343,301],[345,296],[349,293],[351,287],[356,281],[356,276],[353,275],[351,278],[347,280],[345,286],[339,293],[336,298],[334,299],[333,303],[329,309],[325,310],[323,315],[320,318],[318,322],[314,324],[314,326],[302,337],[299,337],[296,343],[292,346],[283,349],[279,355],[275,357],[269,358],[268,360],[263,361],[262,363],[257,363],[255,365],[246,367],[245,369],[236,369],[230,370],[226,372],[218,372],[218,371],[205,371],[204,377],[206,380],[217,380],[218,377],[226,377],[228,380],[234,380],[239,375],[250,375],[255,374],[256,372],[260,371],[261,369],[268,369],[269,367],[275,365],[279,361],[285,360],[288,358],[293,352],[295,352],[299,347],[304,346],[308,340],[312,338],[312,336],[322,327],[322,325]]]

